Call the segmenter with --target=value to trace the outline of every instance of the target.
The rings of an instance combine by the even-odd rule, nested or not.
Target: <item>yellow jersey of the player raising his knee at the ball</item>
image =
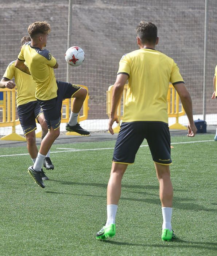
[[[32,47],[31,42],[27,42],[22,46],[18,60],[26,61],[28,65],[36,84],[36,99],[46,101],[57,97],[57,83],[53,69],[57,61],[48,50]]]

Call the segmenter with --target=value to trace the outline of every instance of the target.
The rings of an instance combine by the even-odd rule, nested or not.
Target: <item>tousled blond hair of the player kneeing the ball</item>
[[[28,34],[31,38],[34,38],[38,34],[48,34],[50,31],[50,24],[46,21],[36,21],[28,27]]]

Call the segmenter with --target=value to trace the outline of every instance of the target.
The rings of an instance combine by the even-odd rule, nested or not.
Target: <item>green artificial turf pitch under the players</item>
[[[178,144],[198,140],[212,141]],[[115,141],[75,142],[52,146],[55,169],[45,170],[44,189],[27,173],[28,155],[0,157],[0,255],[216,255],[217,142],[213,135],[176,136],[171,145],[176,240],[160,238],[159,185],[148,147],[124,175],[116,236],[96,240],[106,222],[113,149],[87,149],[113,148]],[[61,147],[85,150],[55,153]],[[26,147],[1,147],[0,155],[25,153]]]

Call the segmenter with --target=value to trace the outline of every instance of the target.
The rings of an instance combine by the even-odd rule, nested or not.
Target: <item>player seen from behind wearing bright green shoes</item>
[[[192,115],[191,97],[177,64],[170,57],[155,50],[159,40],[157,27],[151,22],[141,21],[136,31],[140,49],[121,58],[113,89],[109,118],[109,131],[112,134],[112,124],[118,122],[117,106],[128,80],[123,123],[117,137],[107,187],[107,221],[97,232],[96,238],[106,239],[115,236],[115,217],[121,195],[121,180],[127,166],[134,162],[141,143],[146,139],[160,186],[162,240],[171,240],[175,234],[171,226],[173,187],[169,168],[172,162],[167,115],[169,82],[177,90],[189,119],[187,136],[193,137],[197,128]]]

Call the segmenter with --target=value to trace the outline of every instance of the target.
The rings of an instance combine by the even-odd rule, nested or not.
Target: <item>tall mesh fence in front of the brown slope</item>
[[[217,113],[217,102],[210,99],[217,64],[217,1],[207,1],[205,109],[208,116]],[[68,12],[69,1],[65,0],[37,3],[1,0],[0,75],[16,59],[28,25],[47,20],[51,25],[47,49],[59,63],[55,75],[66,81]],[[135,27],[140,20],[158,26],[156,49],[177,62],[193,99],[193,112],[202,114],[205,0],[72,0],[71,46],[78,45],[85,51],[85,62],[81,67],[69,68],[69,81],[88,86],[89,119],[107,118],[106,90],[115,82],[121,56],[137,49]],[[210,118],[210,122],[217,123],[216,116]]]

